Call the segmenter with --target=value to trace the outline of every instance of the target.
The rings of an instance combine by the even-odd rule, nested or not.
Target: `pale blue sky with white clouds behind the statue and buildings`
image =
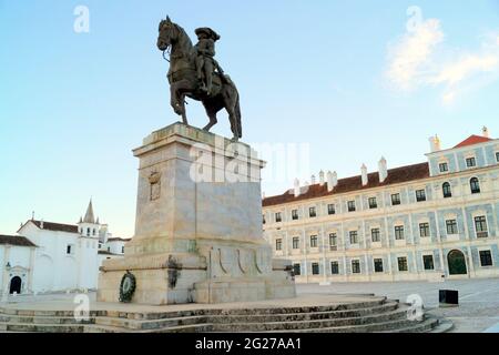
[[[244,141],[303,143],[309,171],[339,178],[421,162],[428,136],[451,146],[499,136],[499,1],[0,0],[0,233],[35,216],[75,223],[90,196],[132,236],[131,150],[177,120],[155,48],[166,14],[222,34],[217,59],[242,97]],[[77,6],[90,32],[73,30]],[[414,11],[420,21],[414,23]],[[204,125],[201,105],[187,106]],[[215,133],[230,135],[225,114]],[[266,195],[292,185],[264,181]]]

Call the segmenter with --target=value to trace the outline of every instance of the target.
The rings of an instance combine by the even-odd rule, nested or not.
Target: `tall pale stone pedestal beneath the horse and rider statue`
[[[126,271],[132,303],[224,303],[296,295],[291,263],[263,239],[261,169],[249,145],[174,123],[144,139],[135,235],[108,260],[98,301],[118,302]]]

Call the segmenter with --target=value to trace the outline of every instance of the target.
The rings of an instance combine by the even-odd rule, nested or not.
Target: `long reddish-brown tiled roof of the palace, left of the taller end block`
[[[308,191],[303,191],[303,193],[297,197],[295,197],[293,190],[286,191],[282,195],[266,197],[263,200],[263,206],[264,207],[273,206],[273,205],[278,205],[278,204],[288,203],[288,202],[296,202],[296,201],[335,195],[335,194],[339,194],[339,193],[360,191],[360,190],[378,187],[378,186],[386,186],[386,185],[404,183],[404,182],[408,182],[408,181],[426,179],[426,178],[429,178],[429,175],[430,174],[429,174],[428,163],[400,166],[400,168],[389,169],[388,178],[383,183],[379,182],[379,174],[377,172],[368,174],[368,183],[365,186],[363,186],[360,175],[346,178],[346,179],[339,179],[338,184],[332,192],[327,191],[327,184],[324,184],[323,186],[320,186],[319,184],[315,184],[315,185],[310,185],[308,187]]]

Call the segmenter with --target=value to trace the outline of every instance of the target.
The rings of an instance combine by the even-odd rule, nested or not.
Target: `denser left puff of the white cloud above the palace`
[[[425,75],[425,65],[442,40],[444,32],[436,19],[426,20],[404,34],[390,49],[388,79],[403,90],[414,88]]]

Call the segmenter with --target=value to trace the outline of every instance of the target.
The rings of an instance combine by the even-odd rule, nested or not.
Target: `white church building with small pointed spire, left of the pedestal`
[[[92,201],[75,225],[29,220],[18,235],[0,237],[1,290],[44,293],[96,288],[102,261],[122,257],[125,242],[112,239],[108,225],[94,219]]]

